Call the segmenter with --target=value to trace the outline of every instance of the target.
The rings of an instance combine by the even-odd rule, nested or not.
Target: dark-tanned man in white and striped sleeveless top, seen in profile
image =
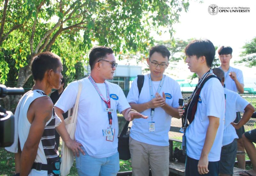
[[[15,155],[15,167],[19,168],[21,176],[59,175],[59,152],[55,139],[52,138],[55,135],[55,127],[69,148],[79,145],[65,136],[63,128],[59,128],[61,120],[55,116],[52,100],[47,96],[53,88],[60,87],[60,57],[52,52],[40,53],[33,58],[31,71],[35,85],[22,96],[15,112],[15,118],[18,118],[18,129],[15,131],[19,135],[19,141],[17,138],[17,141],[6,149],[14,153],[18,152],[18,148],[21,149],[21,155]]]

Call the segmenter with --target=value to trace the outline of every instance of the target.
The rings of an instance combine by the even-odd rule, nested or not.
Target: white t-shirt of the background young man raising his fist
[[[222,69],[221,66],[219,68]],[[230,67],[229,66],[229,68],[230,68],[229,72],[233,71],[233,72],[236,73],[236,78],[237,78],[238,82],[241,83],[241,84],[244,84],[243,72],[241,70],[237,69],[237,68],[234,68],[234,67]],[[228,71],[224,72],[225,73],[225,82],[224,82],[225,83],[225,88],[227,88],[227,89],[229,89],[231,91],[237,92],[236,83],[228,75],[229,72]]]

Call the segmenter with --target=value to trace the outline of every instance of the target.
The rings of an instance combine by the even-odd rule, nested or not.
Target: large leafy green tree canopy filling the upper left
[[[31,59],[44,51],[60,55],[68,76],[95,44],[116,53],[144,52],[153,44],[150,31],[165,26],[172,34],[188,6],[188,0],[1,0],[0,82],[14,60],[16,86],[22,87],[31,76]]]

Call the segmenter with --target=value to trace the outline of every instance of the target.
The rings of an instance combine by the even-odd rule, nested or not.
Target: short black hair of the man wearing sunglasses
[[[100,59],[105,59],[107,54],[113,54],[113,50],[106,46],[95,46],[92,48],[89,54],[89,64],[91,70],[93,69],[96,61]]]

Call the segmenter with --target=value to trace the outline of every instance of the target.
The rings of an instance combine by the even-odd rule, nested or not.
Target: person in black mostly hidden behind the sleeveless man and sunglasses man
[[[57,89],[56,91],[52,92],[50,95],[50,98],[51,98],[53,104],[55,104],[59,100],[60,95],[62,94],[64,89],[65,89],[65,79],[62,78],[60,88]],[[64,119],[66,119],[68,117],[68,112],[64,113],[63,117],[64,117]],[[57,149],[58,149],[59,145],[60,145],[60,134],[56,130],[55,130],[55,142],[56,142]]]

